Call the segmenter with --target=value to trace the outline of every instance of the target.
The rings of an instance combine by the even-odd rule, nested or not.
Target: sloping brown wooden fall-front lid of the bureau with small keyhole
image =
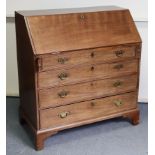
[[[35,54],[141,42],[126,9],[33,15],[25,19]]]

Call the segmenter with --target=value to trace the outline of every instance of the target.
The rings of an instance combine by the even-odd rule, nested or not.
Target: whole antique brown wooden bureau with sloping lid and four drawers
[[[15,13],[20,121],[36,149],[58,131],[114,117],[139,123],[141,39],[128,9]]]

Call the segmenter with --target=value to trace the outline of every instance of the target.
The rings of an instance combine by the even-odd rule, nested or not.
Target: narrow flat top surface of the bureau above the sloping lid
[[[70,14],[70,13],[85,13],[85,12],[99,12],[99,11],[117,11],[127,10],[126,8],[118,6],[95,6],[95,7],[82,7],[82,8],[60,8],[60,9],[47,9],[47,10],[19,10],[15,11],[22,16],[43,16],[55,14]]]

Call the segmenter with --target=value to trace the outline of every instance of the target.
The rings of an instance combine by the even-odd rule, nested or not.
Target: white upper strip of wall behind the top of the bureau
[[[14,16],[15,10],[118,5],[129,8],[134,20],[147,20],[147,0],[6,0],[6,5],[7,16]]]

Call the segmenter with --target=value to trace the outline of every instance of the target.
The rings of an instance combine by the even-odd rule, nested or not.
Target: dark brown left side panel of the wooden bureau
[[[23,16],[15,13],[20,108],[33,128],[38,129],[35,89],[35,57]]]

